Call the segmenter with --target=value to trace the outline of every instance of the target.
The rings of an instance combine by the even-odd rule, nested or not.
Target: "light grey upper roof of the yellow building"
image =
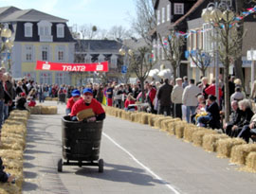
[[[67,20],[59,18],[45,12],[36,9],[24,9],[16,10],[4,17],[1,22],[39,22],[41,20],[46,20],[49,22],[56,23],[66,23]]]

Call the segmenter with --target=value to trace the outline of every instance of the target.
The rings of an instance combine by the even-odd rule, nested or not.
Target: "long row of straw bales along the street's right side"
[[[104,107],[107,115],[149,125],[155,129],[174,134],[206,151],[216,151],[217,157],[229,158],[230,162],[246,165],[247,171],[256,172],[256,144],[247,144],[243,139],[230,138],[216,131],[188,124],[180,118],[152,115],[140,112],[125,112],[114,107]]]

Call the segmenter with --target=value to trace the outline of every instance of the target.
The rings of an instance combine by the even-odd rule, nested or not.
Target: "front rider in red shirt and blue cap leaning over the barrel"
[[[97,120],[103,120],[106,115],[105,111],[101,106],[101,103],[97,101],[95,98],[93,98],[93,91],[90,88],[85,88],[82,91],[83,97],[75,102],[71,109],[71,119],[73,121],[77,120],[77,115],[79,112],[86,110],[86,109],[92,109],[95,116],[90,117],[87,119],[87,122],[94,122]]]

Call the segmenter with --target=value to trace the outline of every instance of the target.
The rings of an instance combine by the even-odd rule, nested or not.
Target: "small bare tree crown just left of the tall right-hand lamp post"
[[[206,70],[208,69],[211,58],[208,53],[202,51],[202,49],[198,49],[194,51],[194,53],[190,53],[190,57],[192,62],[196,65],[196,67],[201,71],[202,76],[206,76]]]

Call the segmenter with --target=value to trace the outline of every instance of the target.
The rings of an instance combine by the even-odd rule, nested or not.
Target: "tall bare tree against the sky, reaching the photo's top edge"
[[[152,44],[150,32],[155,29],[154,0],[137,0],[137,17],[132,20],[132,28],[149,45]]]

